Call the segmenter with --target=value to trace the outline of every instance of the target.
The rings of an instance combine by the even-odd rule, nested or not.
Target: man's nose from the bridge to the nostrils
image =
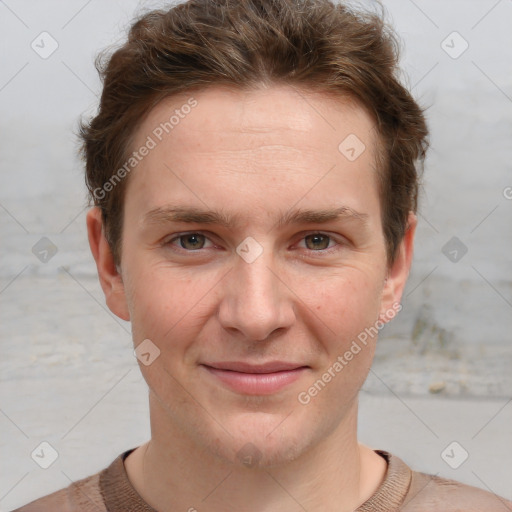
[[[250,341],[264,341],[275,331],[285,331],[295,320],[293,292],[274,269],[272,251],[254,261],[236,257],[227,274],[219,306],[219,321],[228,331]]]

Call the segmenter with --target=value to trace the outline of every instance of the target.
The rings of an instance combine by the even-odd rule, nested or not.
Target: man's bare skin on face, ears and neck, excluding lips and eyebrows
[[[133,148],[190,96],[157,105]],[[356,436],[376,337],[307,405],[297,396],[365,328],[389,319],[408,276],[416,218],[388,265],[376,129],[362,107],[276,85],[215,86],[193,97],[197,106],[129,176],[117,268],[98,209],[87,216],[108,307],[132,322],[135,347],[149,339],[160,350],[150,365],[139,362],[151,440],[126,459],[128,477],[160,512],[354,510],[387,469]],[[366,146],[355,161],[338,150],[349,134]],[[236,222],[148,222],[150,211],[169,205],[222,210]],[[290,210],[342,205],[365,221],[277,225]],[[188,245],[177,238],[191,232],[199,238]],[[311,236],[318,232],[325,237]],[[236,252],[247,237],[263,250],[252,263]],[[308,368],[263,396],[235,392],[201,366],[272,360]],[[259,457],[252,467],[240,459],[247,443]]]

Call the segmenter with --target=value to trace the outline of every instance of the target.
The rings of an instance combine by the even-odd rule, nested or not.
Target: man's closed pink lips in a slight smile
[[[217,382],[245,395],[270,395],[299,379],[308,366],[272,361],[252,365],[240,361],[201,364]]]

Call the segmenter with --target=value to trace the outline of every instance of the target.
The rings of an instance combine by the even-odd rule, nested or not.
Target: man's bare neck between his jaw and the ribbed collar
[[[386,472],[384,459],[357,442],[357,400],[331,435],[268,467],[234,465],[198,447],[158,404],[151,407],[151,433],[125,466],[138,494],[160,512],[353,511]]]

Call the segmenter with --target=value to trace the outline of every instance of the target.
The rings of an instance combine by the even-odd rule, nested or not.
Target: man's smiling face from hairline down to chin
[[[292,460],[353,420],[410,264],[414,227],[386,263],[374,123],[305,90],[215,87],[160,103],[133,149],[148,137],[120,276],[98,269],[134,345],[150,340],[152,427],[231,461]]]

